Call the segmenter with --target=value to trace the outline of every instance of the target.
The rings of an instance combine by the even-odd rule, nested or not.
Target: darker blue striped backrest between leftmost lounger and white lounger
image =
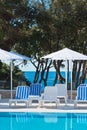
[[[41,96],[41,84],[31,84],[30,85],[30,94],[29,95]]]

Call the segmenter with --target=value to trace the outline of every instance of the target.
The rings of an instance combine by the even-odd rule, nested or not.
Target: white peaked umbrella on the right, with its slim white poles
[[[66,61],[66,88],[67,88],[67,61],[72,60],[87,60],[87,56],[83,55],[79,52],[73,51],[68,48],[64,48],[60,51],[53,52],[46,56],[43,56],[44,59],[52,59],[52,60],[65,60]],[[71,99],[72,99],[72,68],[71,68]]]

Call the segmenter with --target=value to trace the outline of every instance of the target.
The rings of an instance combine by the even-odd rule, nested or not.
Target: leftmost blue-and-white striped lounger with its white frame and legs
[[[24,102],[27,106],[29,95],[29,86],[18,86],[16,88],[16,97],[15,99],[9,99],[9,106],[13,103],[16,106],[17,103]]]

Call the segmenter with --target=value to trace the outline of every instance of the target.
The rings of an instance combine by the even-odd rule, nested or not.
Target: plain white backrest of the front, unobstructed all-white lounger
[[[56,100],[57,99],[57,87],[46,86],[44,89],[44,100]]]

